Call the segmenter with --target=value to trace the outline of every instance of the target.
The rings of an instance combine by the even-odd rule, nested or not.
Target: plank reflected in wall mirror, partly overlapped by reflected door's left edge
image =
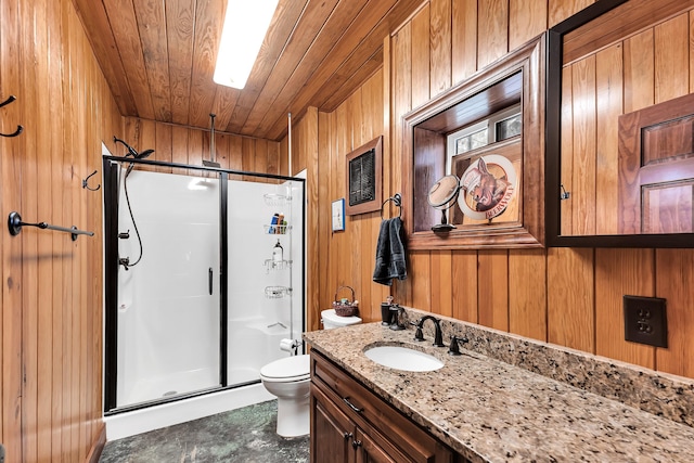
[[[618,182],[615,172],[619,171],[619,151],[617,149],[618,117],[622,114],[622,47],[615,44],[600,51],[595,56],[596,87],[596,166],[595,232],[597,234],[618,233],[619,217]]]

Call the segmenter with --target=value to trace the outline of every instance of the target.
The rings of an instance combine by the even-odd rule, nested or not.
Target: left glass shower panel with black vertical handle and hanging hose
[[[120,170],[116,407],[219,387],[219,179]]]

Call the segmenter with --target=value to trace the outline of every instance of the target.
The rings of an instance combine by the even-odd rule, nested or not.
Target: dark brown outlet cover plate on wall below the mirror
[[[625,339],[655,347],[668,347],[666,299],[624,296]]]

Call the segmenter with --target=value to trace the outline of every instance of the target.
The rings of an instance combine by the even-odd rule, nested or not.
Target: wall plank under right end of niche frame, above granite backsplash
[[[509,250],[509,331],[547,342],[544,249]]]

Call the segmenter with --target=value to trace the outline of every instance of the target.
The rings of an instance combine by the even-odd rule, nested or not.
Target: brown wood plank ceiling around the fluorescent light
[[[333,111],[383,64],[423,0],[280,0],[243,90],[213,81],[227,0],[73,0],[120,113],[280,140],[287,113]],[[249,1],[249,0],[229,0]]]

